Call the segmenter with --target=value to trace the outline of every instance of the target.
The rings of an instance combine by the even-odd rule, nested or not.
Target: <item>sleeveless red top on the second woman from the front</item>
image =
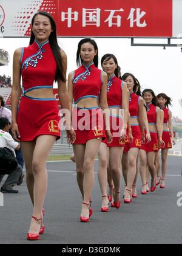
[[[79,100],[92,97],[98,98],[101,91],[103,71],[98,69],[94,63],[89,66],[82,64],[73,71],[73,99],[74,103]]]

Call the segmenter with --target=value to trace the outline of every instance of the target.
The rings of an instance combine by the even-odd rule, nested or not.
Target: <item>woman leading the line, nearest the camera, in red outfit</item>
[[[21,141],[33,204],[27,240],[39,240],[39,234],[44,233],[45,164],[55,140],[61,136],[59,109],[52,88],[53,81],[57,81],[62,108],[69,111],[66,69],[66,54],[58,46],[55,21],[49,13],[36,13],[32,19],[30,45],[16,49],[13,58],[12,130],[15,139]],[[21,76],[22,98],[17,113]],[[71,127],[68,134],[73,142],[75,132]]]

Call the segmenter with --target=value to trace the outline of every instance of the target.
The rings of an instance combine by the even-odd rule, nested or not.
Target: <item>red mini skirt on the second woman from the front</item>
[[[86,144],[91,139],[105,139],[104,118],[99,108],[73,108],[72,125],[76,133],[75,144]]]

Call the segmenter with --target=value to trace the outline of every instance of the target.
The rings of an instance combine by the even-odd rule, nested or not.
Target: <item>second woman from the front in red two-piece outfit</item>
[[[76,140],[73,144],[75,154],[77,182],[83,204],[81,222],[89,222],[92,215],[90,197],[94,181],[94,163],[101,140],[112,140],[109,123],[104,130],[101,109],[107,110],[107,74],[98,69],[98,47],[90,38],[78,43],[76,62],[79,66],[69,74],[68,91],[70,108],[73,107],[73,128]],[[98,107],[100,102],[101,109]]]

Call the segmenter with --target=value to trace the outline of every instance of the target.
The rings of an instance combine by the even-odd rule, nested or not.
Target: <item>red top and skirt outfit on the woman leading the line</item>
[[[59,108],[55,98],[30,97],[27,92],[40,88],[53,88],[56,61],[49,41],[22,48],[22,98],[17,123],[21,141],[31,141],[40,135],[61,136]]]

